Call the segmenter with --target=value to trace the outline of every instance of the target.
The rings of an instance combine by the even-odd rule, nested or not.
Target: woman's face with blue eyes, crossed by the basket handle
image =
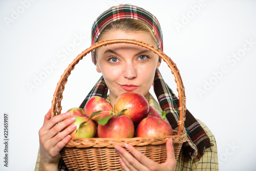
[[[102,40],[136,39],[156,47],[150,34],[116,30],[104,34]],[[101,72],[110,90],[110,101],[124,92],[133,91],[148,100],[156,69],[160,66],[159,56],[154,52],[132,44],[103,46],[97,51],[96,70]]]

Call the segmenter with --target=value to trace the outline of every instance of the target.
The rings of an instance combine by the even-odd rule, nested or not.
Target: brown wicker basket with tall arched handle
[[[72,170],[122,170],[119,162],[119,155],[116,152],[114,146],[124,146],[124,143],[129,143],[138,149],[142,154],[148,158],[162,163],[166,160],[166,141],[169,138],[173,139],[174,151],[176,159],[179,156],[182,143],[187,140],[187,136],[184,129],[185,120],[185,92],[183,82],[176,67],[176,64],[165,55],[162,51],[154,48],[151,45],[145,44],[142,41],[130,40],[130,39],[116,39],[99,41],[92,45],[90,48],[84,50],[78,55],[74,61],[69,65],[61,76],[57,88],[54,92],[52,100],[51,117],[59,115],[61,113],[61,100],[63,98],[62,93],[65,89],[65,84],[68,81],[68,77],[75,65],[88,53],[99,48],[101,46],[125,43],[138,45],[148,50],[153,51],[165,61],[170,68],[172,74],[175,76],[177,83],[177,91],[179,96],[179,113],[180,120],[178,122],[178,131],[174,130],[174,135],[155,138],[73,138],[68,144],[61,150],[60,154],[67,167]]]

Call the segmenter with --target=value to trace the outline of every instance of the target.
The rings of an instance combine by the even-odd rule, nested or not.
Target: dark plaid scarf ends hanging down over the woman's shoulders
[[[156,70],[154,79],[154,91],[162,110],[166,113],[168,122],[174,130],[178,130],[179,99],[165,83],[158,69]],[[87,101],[93,96],[100,96],[104,99],[108,96],[108,87],[105,84],[103,76],[95,84],[79,108],[84,108]],[[188,110],[186,111],[185,130],[188,139],[182,145],[184,156],[198,157],[203,154],[205,149],[212,146],[209,137]]]

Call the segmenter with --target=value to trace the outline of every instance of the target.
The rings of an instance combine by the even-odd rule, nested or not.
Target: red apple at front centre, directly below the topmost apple
[[[99,138],[133,138],[134,124],[129,116],[113,116],[105,125],[98,125]]]

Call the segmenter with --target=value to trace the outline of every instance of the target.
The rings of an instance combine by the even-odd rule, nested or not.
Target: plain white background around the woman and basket
[[[255,169],[255,1],[21,0],[0,1],[0,170],[34,169],[38,130],[60,76],[90,47],[96,17],[119,3],[158,18],[164,52],[177,63],[186,88],[187,108],[216,137],[220,170]],[[164,62],[160,71],[175,91]],[[79,106],[99,77],[87,55],[69,77],[63,111]],[[8,168],[4,113],[9,114]]]

